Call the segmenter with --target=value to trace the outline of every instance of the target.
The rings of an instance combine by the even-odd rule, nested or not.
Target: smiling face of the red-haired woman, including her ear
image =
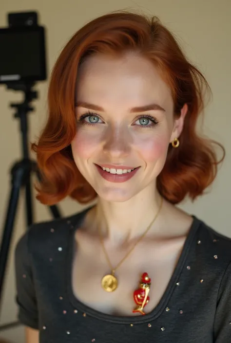
[[[97,54],[81,65],[72,151],[99,197],[126,201],[155,187],[168,146],[181,133],[186,107],[174,120],[170,88],[141,56]],[[137,169],[130,174],[129,167]]]

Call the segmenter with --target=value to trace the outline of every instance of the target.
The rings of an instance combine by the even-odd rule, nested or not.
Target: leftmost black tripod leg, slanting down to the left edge
[[[8,201],[8,210],[5,218],[1,247],[0,247],[0,299],[1,292],[3,288],[5,267],[7,262],[7,255],[10,247],[11,236],[13,232],[13,226],[15,221],[15,216],[17,212],[18,202],[19,202],[19,191],[21,187],[23,172],[19,170],[17,178],[12,182],[12,188],[10,193],[10,198]]]

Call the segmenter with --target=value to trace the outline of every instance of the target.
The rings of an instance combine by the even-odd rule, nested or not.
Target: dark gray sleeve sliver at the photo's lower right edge
[[[222,278],[214,321],[214,343],[228,342],[231,342],[231,263]]]

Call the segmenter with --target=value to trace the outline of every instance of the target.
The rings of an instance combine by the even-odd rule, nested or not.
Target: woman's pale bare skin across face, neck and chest
[[[164,166],[169,144],[182,132],[188,107],[185,104],[180,116],[174,117],[171,90],[156,67],[131,53],[120,58],[100,54],[89,57],[78,71],[76,102],[93,104],[100,110],[81,104],[76,107],[73,156],[98,198],[75,235],[73,292],[78,300],[101,312],[135,316],[133,291],[146,271],[152,279],[150,302],[145,307],[150,312],[171,279],[193,218],[164,200],[147,236],[116,271],[118,288],[113,293],[101,287],[101,278],[111,270],[100,246],[98,227],[111,263],[116,266],[159,208],[156,177]],[[150,104],[163,109],[131,112],[132,108]],[[79,122],[88,112],[90,116]],[[140,119],[141,115],[152,116],[155,123],[149,118]],[[91,122],[94,125],[87,125]],[[114,183],[103,179],[94,163],[140,168],[129,181]]]

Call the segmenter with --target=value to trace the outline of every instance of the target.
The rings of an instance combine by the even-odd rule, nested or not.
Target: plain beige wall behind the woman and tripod
[[[141,9],[159,16],[174,34],[191,61],[205,73],[213,92],[213,100],[206,108],[205,133],[225,145],[227,157],[208,194],[194,204],[185,202],[181,207],[212,225],[214,229],[231,236],[231,1],[230,0],[0,0],[0,26],[7,25],[10,11],[37,10],[40,24],[47,28],[48,72],[66,41],[87,20],[106,12]],[[30,139],[33,140],[46,117],[47,82],[38,83],[39,99],[34,102],[35,112],[29,114]],[[4,221],[10,187],[9,168],[20,158],[18,120],[13,120],[9,102],[19,101],[21,95],[0,86],[0,219]],[[212,192],[211,192],[212,191]],[[14,229],[1,324],[16,319],[13,250],[25,230],[24,202],[20,202]],[[67,199],[61,203],[65,215],[79,211],[83,206]],[[36,220],[51,218],[47,209],[36,203]],[[0,333],[14,343],[24,342],[22,326]]]

